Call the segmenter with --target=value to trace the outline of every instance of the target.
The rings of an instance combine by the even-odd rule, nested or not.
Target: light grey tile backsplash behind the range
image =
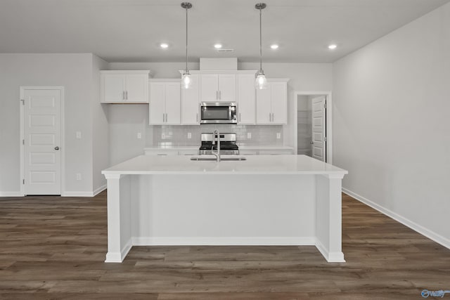
[[[283,145],[282,125],[202,124],[200,126],[149,126],[148,130],[153,132],[152,138],[146,141],[146,147],[198,146],[200,133],[212,133],[215,129],[220,133],[236,133],[238,145]],[[189,133],[191,138],[188,138]],[[277,133],[280,138],[277,138]]]

